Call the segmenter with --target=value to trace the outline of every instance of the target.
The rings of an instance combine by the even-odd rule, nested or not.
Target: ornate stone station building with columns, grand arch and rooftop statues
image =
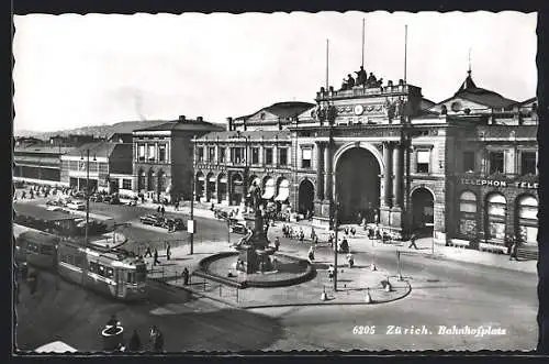
[[[535,245],[536,99],[477,87],[469,70],[438,103],[404,80],[321,88],[315,101],[282,124],[261,109],[197,140],[198,198],[238,205],[229,195],[257,180],[266,201],[288,191],[287,205],[312,211],[317,227],[366,219],[396,238],[432,233],[437,244],[503,251],[516,235]],[[283,167],[276,146],[289,148]]]

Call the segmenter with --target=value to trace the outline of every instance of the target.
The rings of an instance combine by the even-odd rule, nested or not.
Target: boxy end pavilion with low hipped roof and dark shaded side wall
[[[134,190],[147,200],[189,199],[192,181],[191,140],[223,126],[184,115],[133,132]]]

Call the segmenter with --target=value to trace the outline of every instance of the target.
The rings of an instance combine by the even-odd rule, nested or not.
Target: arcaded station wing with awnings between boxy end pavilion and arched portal
[[[288,205],[295,168],[288,126],[313,107],[309,102],[278,102],[246,117],[228,118],[226,131],[197,139],[197,200],[238,206],[256,183],[266,200]]]

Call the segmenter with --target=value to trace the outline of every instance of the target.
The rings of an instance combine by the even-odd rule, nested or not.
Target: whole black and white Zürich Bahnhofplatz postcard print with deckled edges
[[[13,352],[536,350],[537,21],[13,15]]]

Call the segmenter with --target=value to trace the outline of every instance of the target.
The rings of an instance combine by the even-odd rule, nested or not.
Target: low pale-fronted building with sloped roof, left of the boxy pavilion
[[[65,185],[86,189],[88,151],[91,191],[133,190],[132,144],[104,141],[83,144],[61,156],[61,181]]]

